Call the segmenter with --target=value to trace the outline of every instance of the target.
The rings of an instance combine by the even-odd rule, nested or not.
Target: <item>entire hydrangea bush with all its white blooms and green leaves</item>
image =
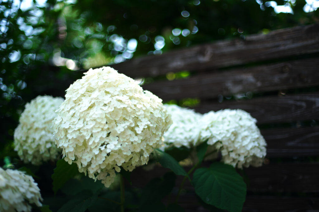
[[[63,201],[41,211],[124,212],[127,206],[148,211],[150,204],[160,211],[175,211],[181,209],[179,195],[189,180],[203,202],[237,212],[245,202],[246,184],[235,168],[261,166],[266,155],[266,142],[249,113],[226,109],[200,114],[163,105],[137,81],[110,67],[90,69],[70,85],[64,101],[39,96],[26,104],[14,144],[20,158],[36,166],[62,151],[63,159],[49,178],[53,193],[59,189],[64,193]],[[160,164],[173,172],[143,189],[124,192],[124,177],[130,181],[130,172],[149,160],[153,161],[149,170]],[[204,160],[209,162],[202,164]],[[10,158],[4,161],[10,163]],[[185,164],[192,164],[188,173],[181,166]],[[29,167],[37,170],[36,166]],[[175,203],[165,206],[160,200],[176,187],[176,175],[184,178]],[[119,183],[113,183],[115,179]],[[120,193],[113,191],[118,187]],[[0,211],[31,211],[34,205],[41,206],[40,200],[32,177],[0,168]]]

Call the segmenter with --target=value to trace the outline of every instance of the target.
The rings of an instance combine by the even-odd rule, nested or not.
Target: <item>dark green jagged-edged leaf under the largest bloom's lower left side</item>
[[[53,191],[54,194],[62,188],[62,186],[70,180],[72,177],[74,177],[76,174],[78,174],[78,166],[75,163],[72,163],[71,165],[68,164],[63,159],[56,162],[56,168],[53,170],[53,174],[51,176],[53,180]]]

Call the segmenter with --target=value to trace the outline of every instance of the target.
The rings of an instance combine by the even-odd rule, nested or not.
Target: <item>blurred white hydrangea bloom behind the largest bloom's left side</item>
[[[53,120],[63,101],[61,97],[38,96],[26,104],[14,131],[14,150],[25,163],[41,165],[56,160],[60,154],[55,145]]]

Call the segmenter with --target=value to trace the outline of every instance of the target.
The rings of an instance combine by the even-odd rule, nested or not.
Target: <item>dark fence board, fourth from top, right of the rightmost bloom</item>
[[[319,127],[263,129],[267,158],[319,156]]]

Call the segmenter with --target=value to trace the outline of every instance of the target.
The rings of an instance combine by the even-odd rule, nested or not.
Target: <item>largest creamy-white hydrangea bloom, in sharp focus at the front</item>
[[[171,124],[162,100],[111,67],[90,69],[66,91],[55,120],[64,160],[109,187],[120,166],[148,162]]]

